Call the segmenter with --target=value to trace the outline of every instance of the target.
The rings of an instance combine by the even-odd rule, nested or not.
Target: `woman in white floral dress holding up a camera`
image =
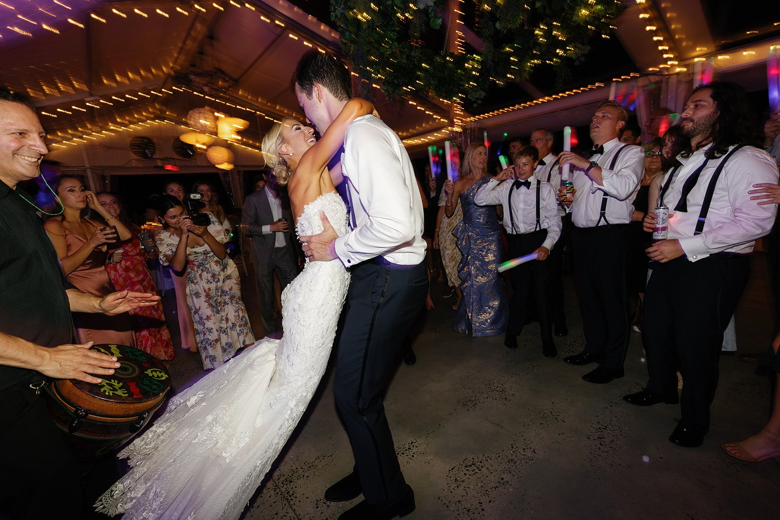
[[[188,217],[175,196],[160,196],[157,209],[164,226],[157,235],[160,262],[179,272],[186,267],[187,303],[200,359],[204,370],[216,368],[254,343],[238,269],[224,246],[229,234],[209,213]]]

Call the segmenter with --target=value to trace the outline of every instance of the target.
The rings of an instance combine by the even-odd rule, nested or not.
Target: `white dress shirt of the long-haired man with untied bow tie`
[[[683,167],[675,174],[674,182],[664,196],[670,214],[668,238],[678,239],[692,262],[722,251],[750,253],[756,239],[769,233],[777,213],[777,204],[759,206],[747,193],[757,182],[777,184],[777,164],[764,150],[743,147],[726,162],[715,185],[704,231],[694,236],[707,186],[725,155],[707,162],[687,197],[688,210],[675,212],[675,207],[683,194],[686,179],[704,162],[704,154],[709,148],[697,150],[687,158],[678,157]]]

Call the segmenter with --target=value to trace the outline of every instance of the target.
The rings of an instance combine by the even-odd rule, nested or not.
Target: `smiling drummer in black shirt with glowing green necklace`
[[[80,518],[79,471],[41,399],[44,376],[100,383],[119,367],[91,343],[72,344],[71,311],[118,314],[159,300],[100,298],[62,276],[33,199],[17,186],[40,175],[45,136],[29,101],[0,88],[0,518]]]

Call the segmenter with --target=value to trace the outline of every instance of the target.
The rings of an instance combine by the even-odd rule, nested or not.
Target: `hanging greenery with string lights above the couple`
[[[370,97],[371,84],[379,83],[391,98],[478,103],[489,85],[527,80],[542,64],[565,81],[592,38],[610,37],[625,6],[618,0],[461,0],[456,9],[470,13],[480,50],[467,43],[459,53],[446,50],[448,31],[463,27],[448,19],[447,0],[331,0],[360,95]]]

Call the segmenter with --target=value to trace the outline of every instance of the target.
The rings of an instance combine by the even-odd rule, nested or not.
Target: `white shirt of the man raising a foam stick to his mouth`
[[[633,200],[639,190],[639,183],[644,174],[644,150],[642,147],[627,145],[618,157],[614,169],[609,169],[612,157],[618,153],[624,143],[615,139],[604,143],[604,154],[594,155],[591,161],[601,166],[601,178],[604,186],[598,186],[590,180],[585,168],[572,168],[569,175],[577,190],[572,202],[572,222],[578,228],[593,228],[596,225],[606,225],[601,219],[602,195],[606,193],[606,220],[609,224],[628,224],[633,214]],[[597,224],[598,222],[598,224]]]

